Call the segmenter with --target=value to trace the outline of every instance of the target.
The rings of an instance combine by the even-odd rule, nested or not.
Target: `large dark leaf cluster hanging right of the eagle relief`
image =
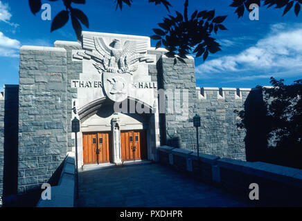
[[[168,50],[166,55],[175,57],[179,55],[186,58],[188,54],[195,54],[196,57],[202,56],[204,60],[208,53],[215,53],[220,49],[211,33],[217,34],[218,30],[227,30],[221,23],[227,16],[215,17],[215,10],[195,10],[188,18],[188,1],[185,3],[184,15],[176,11],[176,15],[168,15],[159,23],[160,28],[154,28],[155,35],[151,39],[159,40],[157,48],[161,45]]]

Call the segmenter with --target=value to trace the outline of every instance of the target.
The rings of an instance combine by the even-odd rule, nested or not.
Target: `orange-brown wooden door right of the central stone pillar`
[[[122,161],[147,159],[145,131],[121,132]]]

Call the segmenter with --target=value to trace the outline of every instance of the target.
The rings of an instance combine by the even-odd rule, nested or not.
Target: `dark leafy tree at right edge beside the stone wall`
[[[302,148],[302,79],[294,82],[285,85],[283,79],[271,77],[272,88],[259,87],[267,107],[267,140],[273,139],[276,148]],[[238,126],[247,128],[247,113],[237,113],[242,119]]]

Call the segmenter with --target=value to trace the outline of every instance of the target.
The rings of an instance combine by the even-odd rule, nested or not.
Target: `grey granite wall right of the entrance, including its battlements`
[[[185,113],[172,113],[168,102],[171,98],[166,96],[166,114],[160,117],[161,145],[195,151],[196,129],[192,119],[198,114],[202,122],[199,128],[201,153],[245,160],[245,131],[237,128],[240,119],[233,111],[244,108],[249,89],[196,88],[194,59],[184,61],[165,55],[159,59],[158,70],[162,75],[159,85],[166,91],[181,89],[180,97],[175,98],[182,108],[188,106],[188,117],[184,118]],[[188,91],[188,104],[183,102],[184,89]]]

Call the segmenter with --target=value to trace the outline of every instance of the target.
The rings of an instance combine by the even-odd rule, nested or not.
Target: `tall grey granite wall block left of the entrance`
[[[66,71],[64,48],[21,47],[19,193],[40,188],[66,157]]]

